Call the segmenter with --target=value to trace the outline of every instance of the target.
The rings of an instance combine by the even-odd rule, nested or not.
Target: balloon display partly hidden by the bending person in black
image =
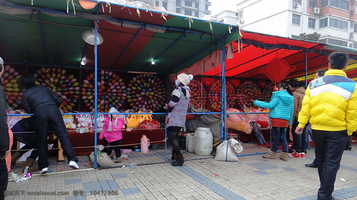
[[[73,74],[67,74],[66,69],[44,68],[36,70],[36,84],[51,89],[62,99],[61,109],[64,112],[72,110],[79,99],[80,87]]]

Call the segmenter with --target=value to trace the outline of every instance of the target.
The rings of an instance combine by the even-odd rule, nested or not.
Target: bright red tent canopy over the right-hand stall
[[[330,44],[271,36],[249,31],[241,32],[243,35],[241,40],[233,44],[234,57],[226,61],[227,77],[268,79],[266,75],[261,74],[259,70],[275,57],[280,57],[290,65],[295,66],[296,69],[288,74],[286,79],[301,77],[305,76],[305,51],[307,52],[308,74],[312,74],[319,69],[327,69],[328,55],[334,51],[324,48]],[[336,47],[340,49],[344,48]],[[336,51],[340,49],[336,49]],[[351,48],[346,49],[349,50],[348,52],[351,52]],[[357,52],[357,49],[355,50]],[[351,58],[356,59],[356,54],[355,52],[350,53]],[[220,76],[221,66],[206,72],[204,75]]]

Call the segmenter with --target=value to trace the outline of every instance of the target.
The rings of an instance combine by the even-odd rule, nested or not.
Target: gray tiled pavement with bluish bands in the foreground
[[[251,153],[267,150],[253,145],[245,148]],[[352,148],[343,154],[333,193],[335,199],[357,199],[357,146]],[[263,159],[261,155],[243,156],[238,157],[239,162],[192,160],[183,167],[162,163],[49,173],[23,183],[9,183],[7,190],[12,196],[5,199],[316,199],[320,184],[317,169],[305,167],[314,159],[314,150],[308,150],[305,159],[289,158],[288,162],[278,159],[279,156],[277,153],[276,160]],[[36,196],[31,193],[40,191],[59,193]]]

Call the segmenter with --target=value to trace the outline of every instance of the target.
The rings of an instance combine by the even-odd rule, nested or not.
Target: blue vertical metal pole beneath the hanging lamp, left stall
[[[97,146],[97,118],[98,118],[98,110],[97,110],[97,80],[98,80],[98,52],[97,52],[97,32],[98,28],[94,27],[94,146]],[[94,165],[93,167],[96,169],[98,167],[97,163],[97,148],[94,147]]]

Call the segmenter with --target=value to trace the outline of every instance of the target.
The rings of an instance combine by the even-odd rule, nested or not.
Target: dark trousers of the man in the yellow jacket
[[[312,130],[315,142],[315,157],[320,177],[317,200],[331,200],[336,174],[340,169],[342,153],[348,140],[347,130]]]

